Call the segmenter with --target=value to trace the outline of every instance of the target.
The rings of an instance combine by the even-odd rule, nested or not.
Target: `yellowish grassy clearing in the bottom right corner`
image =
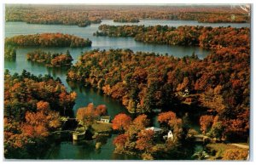
[[[247,149],[237,147],[236,145],[229,145],[229,144],[223,144],[223,143],[207,145],[207,152],[211,155],[211,157],[209,158],[211,160],[221,159],[224,156],[224,151],[229,149],[238,149],[241,151],[247,151]]]

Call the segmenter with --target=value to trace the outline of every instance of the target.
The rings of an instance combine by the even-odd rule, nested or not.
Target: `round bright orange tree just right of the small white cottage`
[[[121,113],[113,118],[112,123],[112,128],[114,130],[124,131],[127,130],[131,124],[131,117],[124,113]]]

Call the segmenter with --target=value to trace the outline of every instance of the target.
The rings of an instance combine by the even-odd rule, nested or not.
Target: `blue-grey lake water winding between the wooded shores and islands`
[[[108,25],[145,25],[145,26],[234,26],[248,27],[249,24],[206,24],[198,23],[190,20],[141,20],[139,23],[116,23],[113,20],[102,20],[101,24]],[[55,53],[65,53],[67,49],[73,56],[73,63],[75,63],[81,52],[88,51],[95,48],[109,49],[109,48],[130,48],[133,51],[146,51],[159,54],[172,54],[177,57],[183,57],[185,55],[191,55],[193,52],[198,54],[202,59],[210,52],[203,48],[198,47],[183,47],[183,46],[169,46],[169,45],[157,45],[136,42],[132,37],[94,37],[93,32],[98,30],[100,24],[92,24],[87,27],[79,26],[61,26],[61,25],[34,25],[26,24],[24,22],[6,22],[5,23],[5,37],[13,37],[21,34],[34,34],[43,32],[61,32],[73,34],[79,37],[89,38],[92,41],[90,48],[41,48],[44,51],[51,51]],[[66,81],[66,69],[54,69],[47,68],[44,65],[34,64],[26,60],[26,54],[36,48],[18,48],[15,61],[4,60],[4,68],[9,69],[11,73],[21,73],[23,69],[31,72],[34,75],[49,74],[52,77],[60,77],[62,83],[67,87],[67,90],[75,91],[78,96],[75,100],[73,107],[74,114],[79,107],[94,103],[95,105],[104,104],[108,107],[108,113],[111,117],[114,117],[120,112],[125,111],[125,107],[116,100],[102,94],[101,91],[94,88],[84,88],[79,84],[67,83]],[[155,122],[155,118],[154,118]],[[113,154],[114,146],[112,144],[113,138],[116,135],[112,135],[107,140],[105,145],[102,145],[101,150],[95,149],[95,142],[81,141],[74,144],[72,141],[62,141],[55,144],[49,149],[44,158],[46,159],[85,159],[85,160],[128,160],[137,159],[136,156],[125,156],[119,154]]]

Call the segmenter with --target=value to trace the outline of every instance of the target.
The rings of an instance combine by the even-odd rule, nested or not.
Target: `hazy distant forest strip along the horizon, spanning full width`
[[[6,21],[24,21],[36,24],[62,24],[88,26],[100,23],[102,19],[119,20],[196,20],[198,22],[249,22],[248,12],[234,5],[199,5],[193,6],[15,6],[7,5]],[[121,19],[123,22],[123,19]]]

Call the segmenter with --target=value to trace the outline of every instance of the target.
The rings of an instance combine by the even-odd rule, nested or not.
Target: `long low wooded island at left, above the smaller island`
[[[5,38],[5,45],[10,46],[40,46],[40,47],[90,47],[91,41],[87,38],[76,37],[62,33],[41,33],[19,35]]]

